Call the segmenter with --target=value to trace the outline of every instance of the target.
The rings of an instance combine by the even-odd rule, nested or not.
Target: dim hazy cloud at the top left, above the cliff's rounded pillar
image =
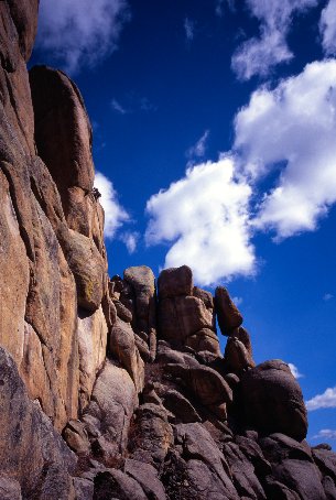
[[[117,47],[126,0],[41,0],[36,45],[75,73]]]

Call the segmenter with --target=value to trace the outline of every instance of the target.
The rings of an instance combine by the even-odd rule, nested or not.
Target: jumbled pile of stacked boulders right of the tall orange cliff
[[[65,434],[85,457],[78,499],[336,499],[336,455],[306,443],[288,365],[254,366],[226,289],[213,298],[184,265],[162,271],[156,296],[152,272],[139,267],[111,280],[110,297],[118,317],[108,359],[80,424]]]

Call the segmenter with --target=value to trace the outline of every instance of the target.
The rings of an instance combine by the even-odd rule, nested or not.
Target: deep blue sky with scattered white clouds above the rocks
[[[335,57],[336,0],[41,0],[31,62],[83,93],[110,274],[226,284],[334,447]]]

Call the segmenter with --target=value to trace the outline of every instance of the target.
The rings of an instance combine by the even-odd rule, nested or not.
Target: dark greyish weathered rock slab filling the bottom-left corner
[[[76,456],[54,431],[40,404],[29,399],[18,368],[3,348],[0,399],[1,476],[9,478],[0,486],[3,494],[12,492],[20,498],[20,485],[23,498],[74,498],[69,474],[75,470]]]

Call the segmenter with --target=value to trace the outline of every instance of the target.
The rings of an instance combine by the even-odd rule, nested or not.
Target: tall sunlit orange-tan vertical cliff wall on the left
[[[61,72],[26,70],[37,3],[0,2],[0,345],[62,430],[105,360],[107,261],[80,94]]]

